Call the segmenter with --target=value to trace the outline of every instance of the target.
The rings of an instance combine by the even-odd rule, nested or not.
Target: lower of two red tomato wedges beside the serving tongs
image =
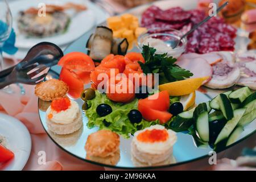
[[[77,75],[66,68],[62,68],[60,72],[60,80],[64,81],[68,87],[68,94],[72,98],[79,98],[82,90],[84,90],[84,82]]]

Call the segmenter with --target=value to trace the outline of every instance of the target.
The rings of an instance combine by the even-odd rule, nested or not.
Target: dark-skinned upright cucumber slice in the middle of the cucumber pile
[[[218,98],[218,105],[220,106],[220,110],[227,120],[234,117],[233,109],[228,99],[228,96],[221,93],[220,97]]]

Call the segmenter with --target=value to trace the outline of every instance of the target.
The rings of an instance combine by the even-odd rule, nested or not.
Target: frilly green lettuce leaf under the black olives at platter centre
[[[112,130],[124,138],[129,138],[130,134],[134,134],[137,130],[142,130],[151,125],[159,124],[159,121],[145,121],[142,119],[140,123],[131,123],[128,118],[128,113],[132,109],[138,109],[138,99],[135,98],[132,102],[128,104],[122,104],[118,102],[110,101],[106,94],[101,94],[96,91],[96,97],[93,100],[87,101],[89,109],[86,110],[86,117],[88,117],[87,126],[91,129],[98,126],[101,129]],[[96,113],[96,108],[100,104],[108,104],[112,107],[112,113],[106,115],[105,117],[100,117]]]

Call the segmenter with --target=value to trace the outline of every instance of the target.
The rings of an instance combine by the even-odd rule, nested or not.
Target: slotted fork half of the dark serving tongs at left
[[[38,84],[46,77],[48,67],[43,64],[27,65],[26,62],[16,65],[15,69],[6,77],[0,78],[0,89],[10,84],[22,83],[28,85]]]

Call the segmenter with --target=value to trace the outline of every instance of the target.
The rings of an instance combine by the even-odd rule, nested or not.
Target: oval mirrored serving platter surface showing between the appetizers
[[[134,9],[131,9],[127,11],[127,13],[131,13],[134,15],[137,15],[138,17],[141,15],[141,13],[152,4],[159,6],[163,9],[180,6],[184,9],[193,9],[196,6],[196,3],[193,1],[179,1],[179,0],[169,0],[169,1],[158,1],[155,3],[150,3],[148,5],[142,5],[139,7],[135,7]],[[80,39],[77,39],[74,43],[71,44],[66,50],[65,53],[73,52],[73,51],[79,51],[86,53],[85,49],[85,43],[88,40],[90,34],[92,34],[94,30],[91,30],[87,32],[86,34],[82,35]],[[236,51],[242,51],[242,47],[245,47],[244,45],[247,44],[247,40],[245,38],[239,37],[236,39]],[[134,48],[131,51],[137,51],[138,49],[134,46]],[[53,67],[53,70],[56,72],[60,72],[60,67]],[[90,85],[86,85],[85,88],[89,88]],[[230,88],[232,89],[232,88]],[[217,96],[217,94],[221,92],[225,92],[226,90],[213,90],[213,89],[207,89],[207,93],[203,94],[200,92],[196,92],[196,104],[199,104],[201,102],[207,102]],[[83,101],[81,99],[76,100],[77,103],[79,103],[80,108],[82,107]],[[40,104],[40,103],[39,103]],[[94,127],[93,129],[88,129],[86,126],[86,123],[88,122],[88,118],[86,118],[85,113],[82,115],[83,119],[83,127],[76,131],[75,133],[71,135],[55,135],[51,131],[48,130],[46,125],[46,112],[39,109],[39,116],[42,122],[42,125],[46,132],[48,133],[49,137],[64,151],[68,152],[69,154],[76,156],[77,158],[84,160],[85,162],[90,162],[93,164],[98,164],[101,166],[111,167],[111,168],[126,168],[126,169],[139,169],[141,167],[136,166],[132,159],[131,159],[131,139],[125,139],[120,137],[120,159],[119,162],[115,165],[108,165],[108,164],[102,164],[97,163],[92,160],[86,159],[86,151],[85,151],[85,143],[88,138],[88,135],[96,132],[98,130],[97,127]],[[230,146],[226,147],[230,148],[237,143],[240,143],[243,139],[249,137],[250,135],[254,134],[256,131],[256,120],[251,122],[249,125],[245,127],[245,130],[240,135],[240,137],[237,139],[237,141]],[[223,149],[224,150],[224,149]],[[162,167],[172,167],[177,166],[179,164],[189,163],[192,161],[195,161],[197,159],[207,158],[209,156],[209,152],[212,151],[212,148],[209,146],[207,147],[196,147],[196,144],[194,143],[193,138],[191,135],[185,134],[185,133],[177,133],[177,142],[174,145],[174,159],[172,160],[172,163],[165,165],[165,166],[148,166],[148,167],[142,167],[143,169],[152,169],[152,168],[162,168]]]

